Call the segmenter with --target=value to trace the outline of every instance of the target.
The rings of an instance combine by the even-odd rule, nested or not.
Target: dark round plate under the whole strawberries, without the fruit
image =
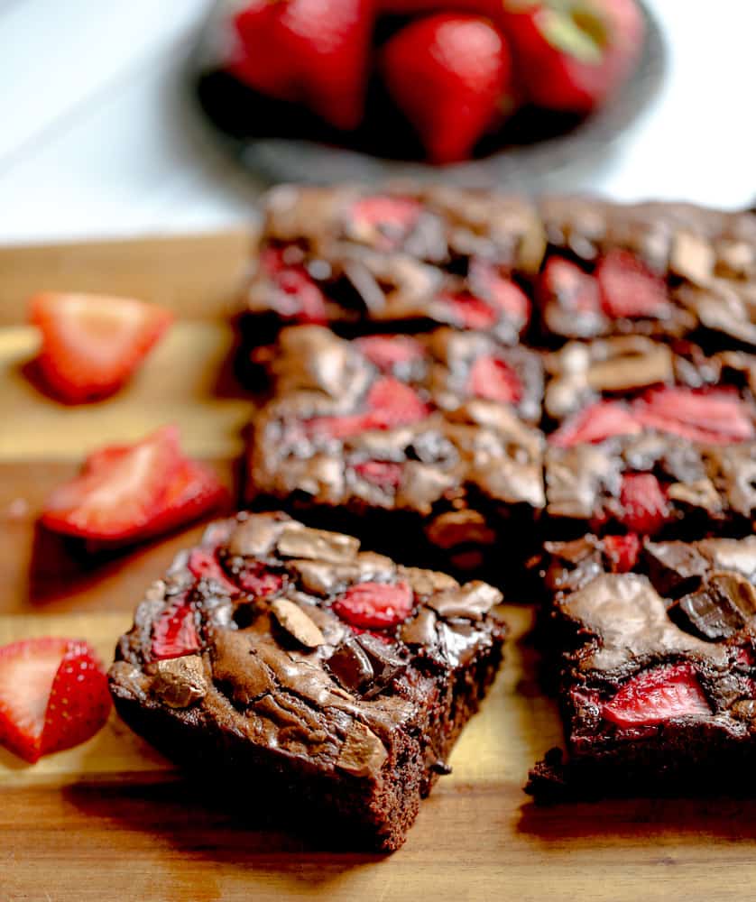
[[[371,131],[368,124],[349,136],[350,146],[346,147],[339,144],[344,135],[328,132],[299,107],[260,97],[217,69],[224,6],[217,4],[213,10],[189,60],[193,106],[226,151],[258,179],[270,182],[443,178],[468,187],[543,189],[595,167],[649,104],[665,68],[666,49],[659,24],[641,5],[646,38],[640,64],[604,109],[585,119],[525,109],[510,120],[502,135],[488,139],[488,147],[485,143],[479,146],[475,160],[438,167],[396,158],[397,145],[418,156],[420,151],[398,118],[386,126],[386,116],[392,113],[377,82],[371,87],[368,103],[373,112],[383,115],[369,117],[369,123],[380,121],[381,127]],[[394,139],[393,146],[386,143],[387,134]],[[516,135],[517,143],[510,137],[510,143],[501,146],[507,135]],[[497,142],[495,147],[492,141]]]

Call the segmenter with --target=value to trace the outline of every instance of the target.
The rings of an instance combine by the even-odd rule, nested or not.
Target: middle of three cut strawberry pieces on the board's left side
[[[105,542],[148,533],[163,510],[166,488],[180,470],[178,431],[165,427],[136,445],[111,449],[52,492],[41,515],[56,532]]]

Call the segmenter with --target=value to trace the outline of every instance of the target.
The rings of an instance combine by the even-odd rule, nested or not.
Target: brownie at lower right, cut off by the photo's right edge
[[[551,750],[527,791],[752,791],[756,538],[632,544],[548,548],[567,754]]]

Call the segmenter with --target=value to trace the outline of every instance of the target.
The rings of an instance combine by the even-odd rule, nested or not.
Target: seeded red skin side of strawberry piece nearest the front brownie
[[[69,642],[44,717],[41,753],[71,749],[106,724],[112,701],[105,670],[86,642]]]

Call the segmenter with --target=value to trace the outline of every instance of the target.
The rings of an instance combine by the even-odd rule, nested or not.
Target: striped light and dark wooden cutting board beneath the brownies
[[[233,484],[251,402],[228,376],[226,319],[248,245],[236,233],[0,250],[0,644],[81,636],[110,660],[143,588],[198,538],[194,527],[94,567],[41,538],[42,500],[88,449],[177,422],[189,453]],[[67,408],[27,378],[37,338],[24,304],[41,288],[133,293],[180,321],[115,399]],[[391,857],[318,851],[265,811],[208,804],[114,715],[93,740],[34,767],[0,750],[0,902],[753,897],[754,802],[530,803],[527,770],[559,725],[523,639],[531,612],[507,616],[506,666],[454,773]]]

